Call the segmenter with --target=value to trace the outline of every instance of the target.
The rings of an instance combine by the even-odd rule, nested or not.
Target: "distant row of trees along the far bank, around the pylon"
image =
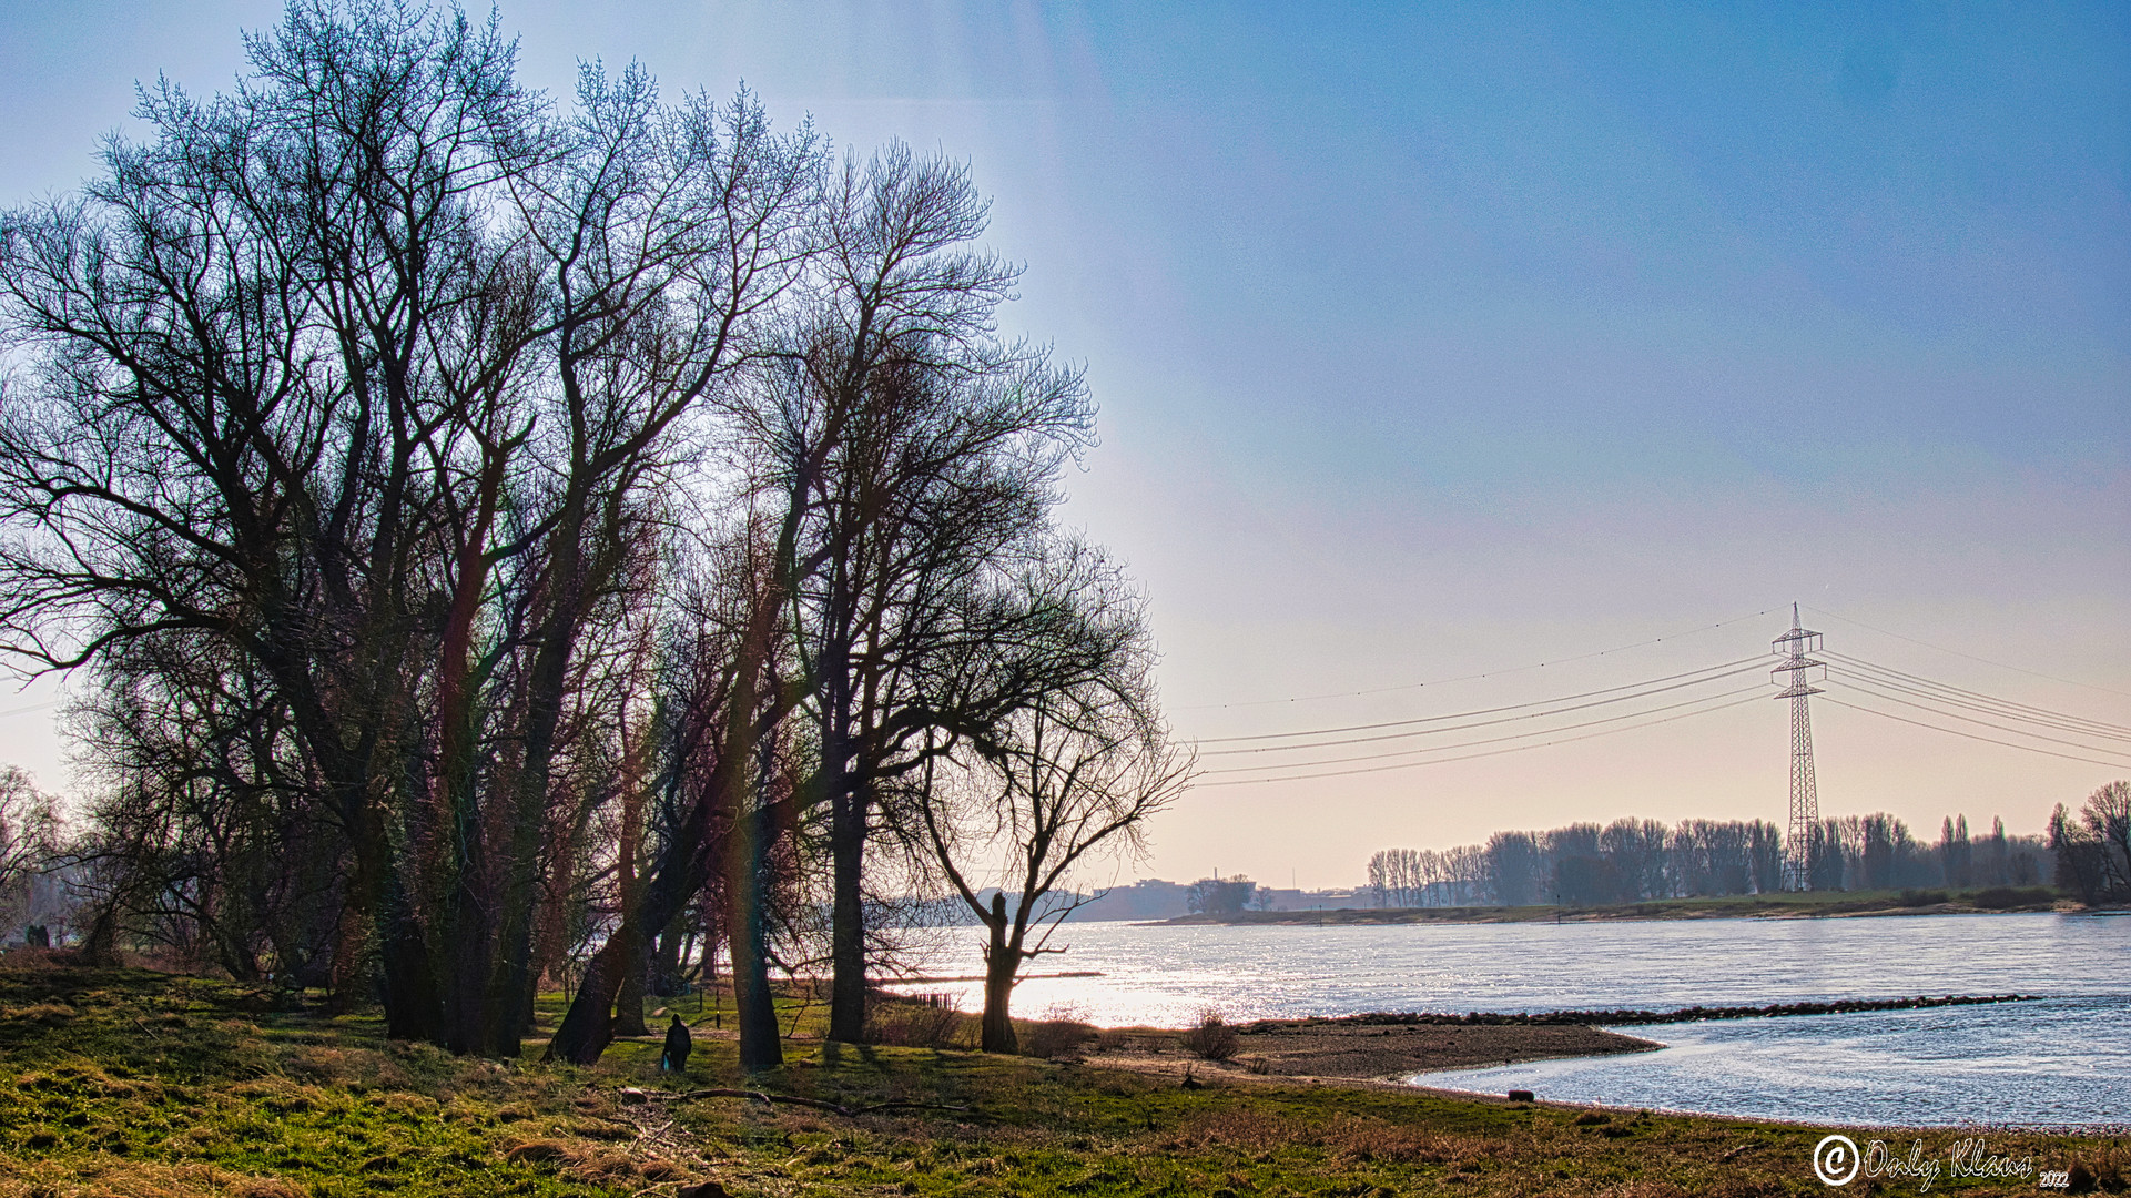
[[[1948,816],[1937,844],[1920,844],[1890,814],[1824,819],[1807,838],[1813,889],[2024,887],[2044,876],[2044,842],[1971,840],[1967,816]],[[1784,831],[1767,821],[1622,819],[1551,831],[1498,831],[1464,848],[1385,848],[1368,861],[1383,906],[1605,906],[1658,897],[1771,893],[1784,883]]]

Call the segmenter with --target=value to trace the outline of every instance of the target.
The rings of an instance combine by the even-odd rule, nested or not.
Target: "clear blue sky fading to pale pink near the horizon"
[[[277,13],[9,4],[0,205],[77,188],[136,79],[226,87],[239,30]],[[989,243],[1025,264],[1006,324],[1102,405],[1066,520],[1144,586],[1170,721],[1204,750],[1743,659],[1792,601],[1831,650],[2131,725],[2131,9],[501,21],[558,96],[582,60],[639,60],[669,94],[746,81],[857,153],[970,162]],[[55,697],[0,697],[0,759],[66,789]],[[1112,876],[1343,887],[1377,848],[1502,827],[1782,823],[1786,708],[1200,784]],[[1826,814],[1926,840],[1952,812],[2037,833],[2131,774],[1824,701],[1813,735]]]

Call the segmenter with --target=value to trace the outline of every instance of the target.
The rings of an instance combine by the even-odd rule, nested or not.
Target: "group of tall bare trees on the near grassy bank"
[[[92,951],[482,1055],[588,951],[578,1062],[722,957],[763,1068],[771,968],[857,1040],[869,912],[944,891],[1010,1049],[1044,895],[1189,759],[1053,518],[1093,405],[997,330],[965,168],[635,68],[554,104],[456,11],[247,51],[0,217],[0,648],[92,680]]]

